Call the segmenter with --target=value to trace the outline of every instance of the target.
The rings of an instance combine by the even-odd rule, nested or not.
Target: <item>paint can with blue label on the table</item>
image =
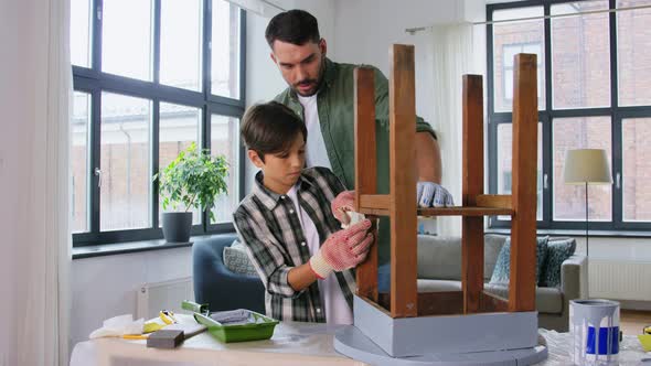
[[[575,365],[619,365],[619,302],[572,300],[569,332]]]

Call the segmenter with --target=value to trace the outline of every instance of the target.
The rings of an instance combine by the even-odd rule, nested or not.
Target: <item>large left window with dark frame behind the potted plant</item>
[[[153,174],[196,143],[225,154],[228,195],[193,235],[233,230],[244,168],[245,13],[224,0],[72,0],[73,245],[162,238]]]

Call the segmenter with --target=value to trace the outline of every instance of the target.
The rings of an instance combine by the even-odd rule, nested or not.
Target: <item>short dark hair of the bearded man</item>
[[[271,18],[265,31],[265,37],[271,49],[276,40],[296,45],[303,45],[308,41],[318,43],[321,40],[317,18],[298,9]]]

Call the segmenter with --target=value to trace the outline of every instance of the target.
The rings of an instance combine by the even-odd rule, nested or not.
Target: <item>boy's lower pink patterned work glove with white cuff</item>
[[[373,234],[367,233],[370,228],[371,222],[364,219],[332,234],[310,258],[310,268],[314,274],[324,279],[332,271],[342,271],[361,263],[373,244]]]

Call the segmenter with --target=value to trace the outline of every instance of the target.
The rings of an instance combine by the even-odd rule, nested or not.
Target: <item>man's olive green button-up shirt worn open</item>
[[[317,94],[319,123],[328,159],[334,174],[343,182],[348,190],[355,189],[354,159],[354,85],[353,71],[357,66],[371,67],[375,72],[375,133],[377,141],[377,193],[388,193],[388,80],[380,69],[367,65],[340,64],[326,58],[323,82]],[[275,98],[276,101],[288,106],[301,119],[303,107],[298,100],[296,92],[285,89]],[[436,134],[429,123],[416,117],[416,131]],[[414,197],[416,200],[416,197]],[[389,258],[388,220],[383,219],[380,225],[380,263]]]

